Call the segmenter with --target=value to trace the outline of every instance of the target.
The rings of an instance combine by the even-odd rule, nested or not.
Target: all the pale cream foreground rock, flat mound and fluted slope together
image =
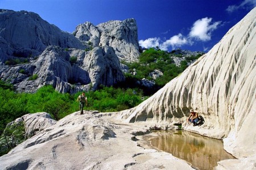
[[[256,8],[207,54],[138,107],[98,114],[104,120],[91,113],[70,114],[1,156],[0,169],[189,169],[171,154],[131,141],[138,131],[146,133],[148,125],[170,129],[174,123],[224,139],[224,148],[238,159],[223,160],[217,169],[255,169],[255,23]],[[189,109],[203,116],[205,123],[186,124]]]

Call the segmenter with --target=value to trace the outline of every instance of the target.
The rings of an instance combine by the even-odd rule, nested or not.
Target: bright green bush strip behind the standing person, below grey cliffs
[[[44,86],[35,94],[17,94],[10,84],[0,81],[0,134],[7,123],[27,113],[47,112],[55,120],[79,111],[77,94],[60,94],[52,86]],[[121,111],[135,107],[142,102],[142,92],[132,89],[101,87],[97,91],[86,92],[87,110],[100,112]]]

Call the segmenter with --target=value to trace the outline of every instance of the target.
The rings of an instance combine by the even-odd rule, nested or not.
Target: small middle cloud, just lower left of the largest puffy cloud
[[[169,40],[164,41],[163,44],[160,44],[159,48],[162,50],[168,50],[168,47],[170,46],[174,49],[177,46],[185,44],[188,44],[187,38],[179,33],[179,35],[172,36]]]

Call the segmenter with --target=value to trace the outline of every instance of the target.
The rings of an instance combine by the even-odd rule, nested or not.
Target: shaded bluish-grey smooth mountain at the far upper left
[[[34,57],[49,45],[61,48],[85,46],[68,32],[49,24],[38,14],[28,11],[0,10],[0,61],[4,56]]]

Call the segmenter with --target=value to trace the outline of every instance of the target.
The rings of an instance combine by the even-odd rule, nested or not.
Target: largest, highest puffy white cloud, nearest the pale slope
[[[212,31],[217,29],[218,25],[221,22],[214,22],[212,23],[212,18],[203,18],[197,20],[193,27],[191,28],[191,31],[189,32],[189,37],[196,38],[201,41],[209,41],[211,38]]]

